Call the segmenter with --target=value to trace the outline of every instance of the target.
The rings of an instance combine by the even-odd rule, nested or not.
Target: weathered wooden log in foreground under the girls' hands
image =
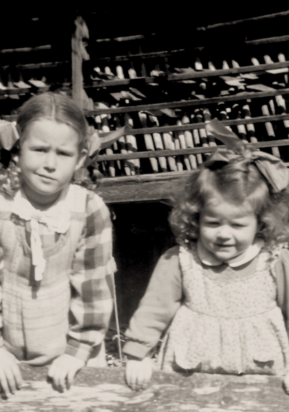
[[[133,392],[124,381],[122,367],[79,372],[75,384],[63,393],[47,383],[47,368],[22,366],[22,389],[8,400],[5,412],[288,412],[289,396],[275,376],[182,376],[155,372],[146,390]]]

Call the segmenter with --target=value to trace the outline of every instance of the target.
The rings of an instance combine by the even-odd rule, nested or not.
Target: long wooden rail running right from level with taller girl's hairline
[[[272,91],[249,91],[247,93],[237,93],[232,96],[221,96],[217,98],[206,98],[206,99],[196,99],[196,100],[182,100],[180,102],[162,102],[162,103],[152,103],[150,105],[136,105],[136,106],[125,106],[125,107],[114,107],[107,109],[93,109],[85,112],[86,116],[96,116],[97,114],[112,114],[112,113],[128,113],[128,112],[146,112],[147,110],[157,110],[157,109],[172,109],[179,107],[190,107],[190,106],[207,106],[214,105],[217,103],[225,102],[235,102],[237,100],[249,100],[256,98],[267,98],[274,96],[282,96],[289,94],[289,89],[279,89]]]

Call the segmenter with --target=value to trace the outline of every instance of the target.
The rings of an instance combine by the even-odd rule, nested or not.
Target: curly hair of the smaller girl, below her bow
[[[169,218],[179,243],[198,238],[201,210],[217,195],[235,205],[248,202],[258,220],[256,236],[267,245],[289,240],[289,189],[273,193],[256,165],[243,158],[214,167],[204,163],[183,182]]]

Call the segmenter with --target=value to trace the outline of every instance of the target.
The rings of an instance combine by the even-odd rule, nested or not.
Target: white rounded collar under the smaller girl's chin
[[[238,266],[242,266],[244,264],[247,264],[249,261],[253,260],[254,257],[256,257],[257,254],[260,252],[263,245],[263,239],[256,238],[253,244],[250,245],[248,249],[244,251],[244,253],[240,254],[240,259],[237,259],[237,261],[235,260],[235,258],[228,259],[228,261],[226,262],[220,261],[219,259],[214,257],[213,254],[210,253],[200,241],[198,241],[197,244],[197,251],[198,257],[201,259],[203,264],[207,266],[219,266],[223,263],[226,263],[228,266],[231,266],[231,268],[237,268]]]

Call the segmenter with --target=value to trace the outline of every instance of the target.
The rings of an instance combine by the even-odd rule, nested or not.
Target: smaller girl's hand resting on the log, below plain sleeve
[[[128,360],[125,369],[127,385],[132,390],[145,389],[153,374],[153,362],[150,358]]]

